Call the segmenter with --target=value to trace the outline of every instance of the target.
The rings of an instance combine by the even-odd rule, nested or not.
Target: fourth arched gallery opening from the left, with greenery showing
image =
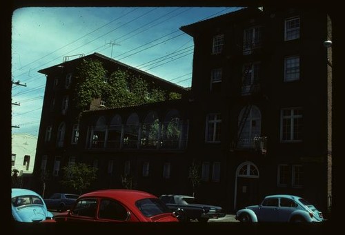
[[[155,148],[159,139],[159,119],[157,112],[149,112],[141,130],[140,146],[144,148]]]

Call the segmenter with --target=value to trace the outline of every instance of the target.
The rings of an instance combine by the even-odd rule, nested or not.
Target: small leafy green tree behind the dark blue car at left
[[[75,163],[63,167],[63,180],[61,183],[74,188],[79,194],[86,190],[97,179],[97,169],[85,163]]]

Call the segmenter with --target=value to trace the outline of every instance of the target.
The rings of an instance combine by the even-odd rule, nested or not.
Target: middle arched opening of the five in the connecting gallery
[[[137,148],[139,138],[139,116],[135,112],[128,116],[124,127],[124,147]]]

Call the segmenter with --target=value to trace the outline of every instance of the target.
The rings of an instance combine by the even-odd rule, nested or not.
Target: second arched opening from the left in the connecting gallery
[[[107,147],[119,148],[121,146],[122,119],[116,114],[110,121]]]

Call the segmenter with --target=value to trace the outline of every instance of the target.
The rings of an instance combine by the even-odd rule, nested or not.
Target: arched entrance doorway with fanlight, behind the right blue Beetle
[[[234,198],[235,210],[257,204],[259,199],[259,170],[254,163],[246,161],[237,167]]]

